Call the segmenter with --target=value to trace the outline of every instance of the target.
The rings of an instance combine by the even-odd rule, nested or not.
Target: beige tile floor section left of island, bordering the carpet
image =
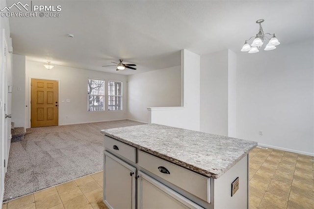
[[[103,171],[9,201],[2,209],[107,209]]]

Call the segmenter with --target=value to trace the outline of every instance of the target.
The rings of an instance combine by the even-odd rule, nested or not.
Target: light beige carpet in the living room
[[[100,130],[141,124],[121,120],[27,129],[24,140],[11,143],[4,202],[103,170]]]

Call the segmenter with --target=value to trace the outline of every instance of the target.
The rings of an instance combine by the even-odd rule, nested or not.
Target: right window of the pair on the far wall
[[[108,81],[108,109],[122,110],[122,82]]]

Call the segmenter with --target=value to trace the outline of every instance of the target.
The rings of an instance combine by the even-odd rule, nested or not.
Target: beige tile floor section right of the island
[[[255,148],[249,180],[250,209],[314,209],[314,157]]]

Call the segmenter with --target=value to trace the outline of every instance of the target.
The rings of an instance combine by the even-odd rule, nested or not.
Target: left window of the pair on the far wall
[[[88,79],[88,111],[105,111],[105,80]]]

